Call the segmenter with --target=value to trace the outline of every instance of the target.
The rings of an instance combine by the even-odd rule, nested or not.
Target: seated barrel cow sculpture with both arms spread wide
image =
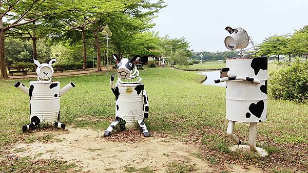
[[[60,82],[51,81],[53,75],[51,59],[49,63],[40,63],[35,59],[37,66],[37,81],[30,81],[30,87],[26,87],[17,81],[14,86],[30,97],[30,124],[23,126],[23,132],[32,130],[41,124],[54,125],[57,128],[65,129],[65,124],[60,121],[60,97],[75,87],[73,82],[67,84],[60,90]]]

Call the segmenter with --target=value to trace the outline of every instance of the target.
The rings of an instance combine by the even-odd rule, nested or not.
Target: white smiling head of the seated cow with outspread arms
[[[56,59],[51,59],[49,63],[40,63],[36,59],[31,59],[31,62],[35,63],[37,66],[36,68],[36,74],[37,74],[37,80],[39,81],[51,81],[51,77],[53,75],[53,68],[51,67],[51,64],[56,62]]]

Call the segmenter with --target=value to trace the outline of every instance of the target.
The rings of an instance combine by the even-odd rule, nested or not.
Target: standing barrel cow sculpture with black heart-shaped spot
[[[230,29],[227,27],[226,30],[228,28]],[[247,38],[250,39],[247,34],[243,33],[243,29],[239,30],[241,32],[237,33],[241,34],[240,36],[236,36],[235,32],[228,30],[235,40],[228,38],[230,36],[226,37],[225,46],[229,50],[238,47],[237,42],[245,42]],[[228,42],[228,40],[232,41]],[[240,48],[243,49],[247,45],[248,41]],[[242,50],[240,55],[244,55],[243,52]],[[224,81],[226,82],[226,119],[229,120],[227,134],[238,144],[230,149],[250,148],[261,156],[267,156],[264,149],[256,147],[257,123],[267,119],[267,58],[244,56],[226,58],[226,68],[221,70],[220,79],[215,80],[215,83]],[[241,145],[242,142],[233,134],[235,122],[250,123],[249,146]]]

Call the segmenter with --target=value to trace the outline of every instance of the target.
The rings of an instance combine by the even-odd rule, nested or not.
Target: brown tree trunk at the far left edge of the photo
[[[0,19],[0,71],[1,78],[8,78],[8,73],[6,71],[6,63],[5,63],[5,55],[4,55],[4,28],[3,28],[3,20]]]

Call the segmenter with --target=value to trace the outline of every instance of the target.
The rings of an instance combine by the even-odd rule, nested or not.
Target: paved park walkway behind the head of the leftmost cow
[[[103,72],[107,71],[106,67],[102,67]],[[70,75],[82,75],[82,74],[88,74],[88,73],[93,73],[96,72],[97,68],[89,68],[86,71],[84,70],[67,70],[63,71],[63,73],[53,73],[52,77],[57,77],[57,76],[70,76]],[[11,79],[24,79],[24,78],[36,78],[37,75],[36,73],[30,74],[30,75],[16,75],[16,76],[9,76]]]

